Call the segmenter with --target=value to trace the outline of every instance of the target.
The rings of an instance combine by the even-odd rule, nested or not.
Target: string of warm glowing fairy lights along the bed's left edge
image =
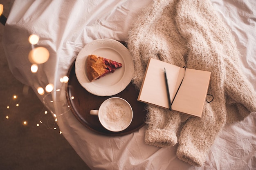
[[[30,35],[28,38],[28,41],[31,44],[31,51],[29,52],[28,59],[29,59],[29,62],[31,62],[30,70],[31,70],[31,73],[33,74],[36,74],[38,72],[38,64],[43,64],[47,62],[49,59],[49,51],[45,47],[34,46],[39,42],[39,39],[40,39],[39,36],[36,34]],[[67,83],[69,81],[69,78],[67,76],[63,76],[59,80],[61,83]],[[45,88],[43,88],[42,86],[38,86],[36,90],[39,95],[44,95],[45,93],[49,93],[48,95],[50,95],[50,93],[54,90],[54,85],[49,83],[45,86]],[[60,89],[56,90],[56,92],[58,91],[60,91]],[[20,104],[18,102],[19,101],[18,96],[13,95],[12,99],[13,101],[16,101],[16,105],[14,106],[19,107]],[[72,99],[74,99],[74,97],[72,97]],[[53,102],[53,101],[49,101],[49,102]],[[67,107],[69,108],[70,106],[67,106]],[[10,108],[11,108],[10,106],[7,106],[7,109],[10,109]],[[36,124],[36,126],[38,127],[40,126],[40,124],[43,124],[45,127],[49,129],[56,130],[57,129],[56,122],[58,121],[57,116],[53,111],[51,111],[51,113],[52,113],[51,117],[53,117],[54,119],[52,118],[50,119],[49,117],[46,118],[45,115],[49,115],[49,114],[47,109],[44,106],[44,108],[39,114],[39,122]],[[9,119],[9,118],[10,118],[9,115],[6,115],[6,119]],[[27,126],[28,121],[24,120],[22,121],[22,124],[24,126]],[[62,132],[60,131],[60,134],[61,133]]]

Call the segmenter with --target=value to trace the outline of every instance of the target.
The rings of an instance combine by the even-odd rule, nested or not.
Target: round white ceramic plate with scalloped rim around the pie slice
[[[88,55],[94,54],[116,62],[121,62],[122,67],[114,73],[90,82],[85,69]],[[132,56],[128,49],[120,42],[112,39],[98,39],[86,44],[79,52],[75,62],[76,77],[88,92],[98,96],[116,95],[123,91],[130,83],[134,73]]]

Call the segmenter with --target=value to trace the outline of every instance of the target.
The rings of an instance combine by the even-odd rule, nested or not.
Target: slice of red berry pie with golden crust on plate
[[[122,64],[99,55],[88,55],[86,71],[88,79],[93,82],[108,73],[114,73],[117,68],[122,67]]]

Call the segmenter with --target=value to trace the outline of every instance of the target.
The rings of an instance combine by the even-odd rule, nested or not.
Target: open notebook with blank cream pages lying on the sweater
[[[168,77],[172,109],[201,117],[211,77],[209,71],[185,69],[150,58],[138,101],[169,108],[164,68]]]

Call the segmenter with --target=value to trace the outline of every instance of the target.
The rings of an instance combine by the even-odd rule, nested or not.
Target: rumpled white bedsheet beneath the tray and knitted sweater
[[[5,25],[3,46],[13,75],[36,92],[67,74],[79,51],[95,39],[126,40],[133,20],[151,0],[16,0]],[[212,0],[234,34],[241,66],[256,89],[256,1]],[[31,73],[28,37],[39,35],[50,58]],[[36,45],[36,46],[37,46]],[[36,92],[37,93],[37,92]],[[43,96],[38,95],[42,100]],[[61,98],[65,101],[65,95]],[[62,134],[91,169],[107,170],[252,170],[256,169],[256,113],[226,125],[202,167],[177,159],[176,146],[157,148],[144,144],[145,127],[121,137],[98,135],[79,123],[71,111],[56,111]]]

